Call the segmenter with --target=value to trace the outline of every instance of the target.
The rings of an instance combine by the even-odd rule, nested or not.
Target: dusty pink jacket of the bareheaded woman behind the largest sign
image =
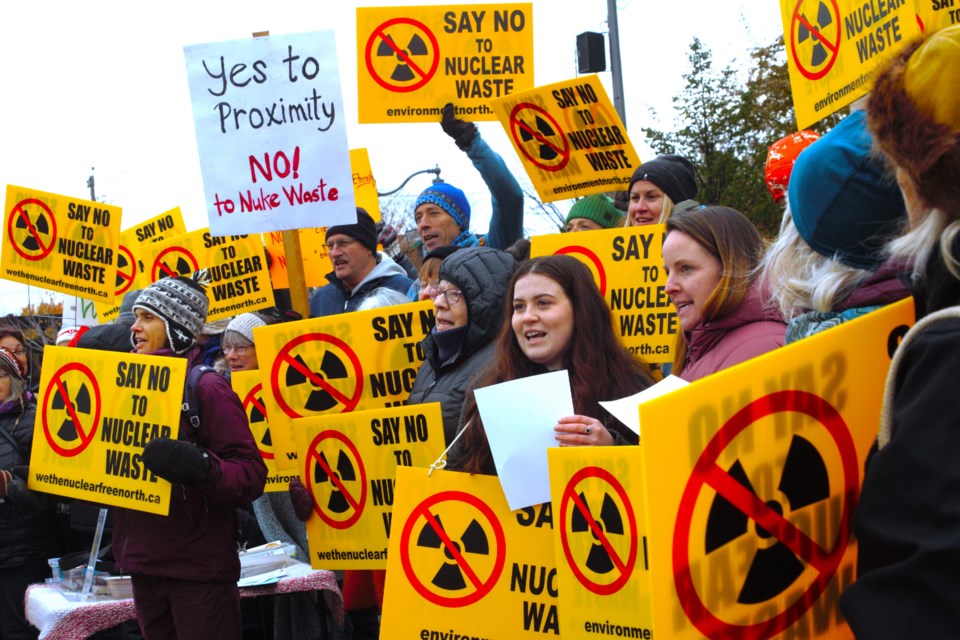
[[[786,329],[780,311],[764,307],[755,283],[733,313],[684,332],[687,358],[679,377],[693,382],[782,347]]]

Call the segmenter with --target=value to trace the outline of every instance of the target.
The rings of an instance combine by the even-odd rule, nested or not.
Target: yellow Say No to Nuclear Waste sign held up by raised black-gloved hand
[[[357,8],[361,124],[493,120],[488,106],[533,86],[533,5]]]

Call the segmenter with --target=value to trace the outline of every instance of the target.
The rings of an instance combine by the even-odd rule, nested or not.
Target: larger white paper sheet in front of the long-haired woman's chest
[[[549,502],[547,447],[557,446],[557,420],[573,415],[567,371],[501,382],[474,393],[510,509]]]

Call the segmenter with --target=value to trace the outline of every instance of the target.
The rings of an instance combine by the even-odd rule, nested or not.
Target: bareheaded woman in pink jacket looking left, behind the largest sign
[[[680,321],[674,375],[692,382],[783,346],[783,318],[764,307],[756,282],[763,251],[757,228],[729,207],[667,220],[666,293]]]

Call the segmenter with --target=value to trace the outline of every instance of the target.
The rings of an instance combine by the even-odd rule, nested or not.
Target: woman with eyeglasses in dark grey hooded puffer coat
[[[440,264],[432,291],[436,324],[421,343],[426,359],[407,404],[439,402],[447,443],[456,435],[470,379],[493,357],[514,265],[509,254],[489,247],[460,249]]]

